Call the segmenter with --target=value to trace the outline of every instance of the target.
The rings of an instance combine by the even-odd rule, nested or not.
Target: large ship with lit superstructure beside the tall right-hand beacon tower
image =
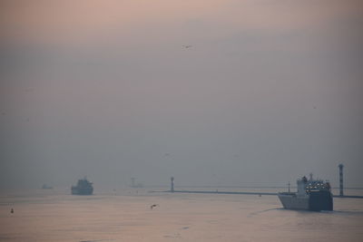
[[[282,206],[287,209],[300,210],[333,210],[333,196],[330,184],[321,179],[310,179],[306,177],[298,179],[297,192],[280,192],[279,198]]]

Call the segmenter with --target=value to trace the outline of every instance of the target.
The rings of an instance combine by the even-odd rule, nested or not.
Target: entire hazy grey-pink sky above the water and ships
[[[363,186],[360,1],[0,5],[0,189]]]

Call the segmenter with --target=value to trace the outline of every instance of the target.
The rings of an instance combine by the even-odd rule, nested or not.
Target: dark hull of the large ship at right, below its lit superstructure
[[[296,193],[281,192],[279,198],[282,206],[287,209],[298,210],[333,210],[333,198],[329,191],[313,191],[306,196],[298,196]]]

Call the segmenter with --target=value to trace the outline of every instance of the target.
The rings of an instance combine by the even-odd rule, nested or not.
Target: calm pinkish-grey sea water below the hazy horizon
[[[283,209],[275,196],[148,190],[3,195],[0,241],[363,241],[363,199],[334,198],[334,211],[309,212]]]

